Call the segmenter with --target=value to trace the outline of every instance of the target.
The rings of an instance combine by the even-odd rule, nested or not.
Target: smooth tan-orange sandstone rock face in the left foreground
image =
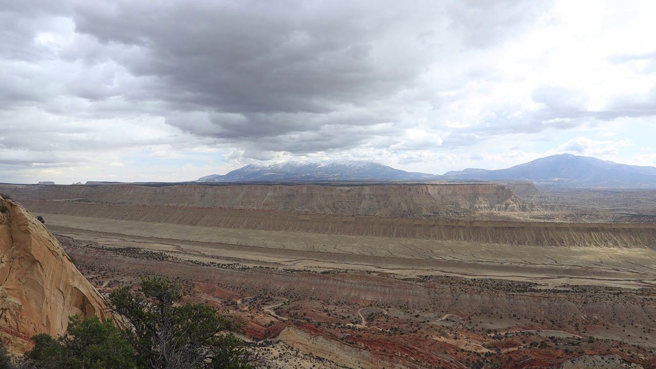
[[[6,207],[6,208],[5,208]],[[62,246],[24,207],[0,197],[0,333],[14,351],[35,334],[64,334],[71,315],[109,317]],[[16,339],[7,339],[7,335]]]

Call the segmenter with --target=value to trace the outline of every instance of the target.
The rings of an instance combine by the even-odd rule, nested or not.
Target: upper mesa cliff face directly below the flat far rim
[[[424,217],[537,209],[497,184],[394,185],[5,185],[21,200],[114,205],[224,207],[329,215]]]

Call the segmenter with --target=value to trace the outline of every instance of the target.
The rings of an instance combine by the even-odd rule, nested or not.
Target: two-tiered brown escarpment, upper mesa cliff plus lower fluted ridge
[[[25,206],[42,215],[488,244],[656,249],[653,223],[586,223],[585,217],[581,223],[518,221],[524,218],[509,214],[539,213],[545,206],[491,183],[10,186],[0,190],[20,196]]]

